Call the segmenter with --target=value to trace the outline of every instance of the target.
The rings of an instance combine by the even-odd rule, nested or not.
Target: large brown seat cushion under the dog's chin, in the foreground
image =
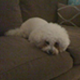
[[[49,80],[72,68],[69,53],[49,56],[19,37],[0,37],[0,80]]]

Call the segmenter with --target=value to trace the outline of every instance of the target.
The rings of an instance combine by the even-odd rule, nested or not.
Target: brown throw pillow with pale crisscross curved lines
[[[58,4],[58,23],[65,25],[80,26],[80,5],[69,6]]]

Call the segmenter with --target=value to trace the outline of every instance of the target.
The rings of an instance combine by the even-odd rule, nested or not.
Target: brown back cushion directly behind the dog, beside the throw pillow
[[[57,21],[57,3],[67,0],[20,0],[23,21],[30,17],[41,17],[49,22]]]

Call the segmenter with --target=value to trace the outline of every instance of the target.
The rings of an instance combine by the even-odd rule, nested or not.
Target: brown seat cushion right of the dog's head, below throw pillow
[[[80,64],[80,28],[73,26],[64,26],[69,32],[71,45],[69,52],[73,57],[74,64]]]

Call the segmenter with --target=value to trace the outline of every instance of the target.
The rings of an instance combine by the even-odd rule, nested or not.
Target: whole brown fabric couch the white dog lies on
[[[0,0],[0,80],[80,80],[80,28],[63,26],[69,49],[50,56],[26,39],[4,36],[30,17],[58,22],[58,3],[67,0]]]

